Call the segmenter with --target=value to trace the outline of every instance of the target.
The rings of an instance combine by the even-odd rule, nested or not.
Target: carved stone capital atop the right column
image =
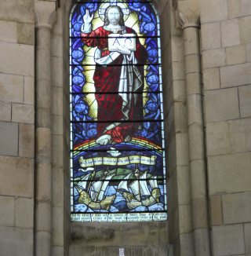
[[[176,27],[199,27],[200,0],[177,1],[176,3]]]

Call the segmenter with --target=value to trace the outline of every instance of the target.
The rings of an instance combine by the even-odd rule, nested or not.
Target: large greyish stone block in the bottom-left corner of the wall
[[[33,230],[0,227],[0,248],[1,255],[33,255]]]

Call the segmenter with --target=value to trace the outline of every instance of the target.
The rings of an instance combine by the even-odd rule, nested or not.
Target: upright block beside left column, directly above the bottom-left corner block
[[[34,199],[17,197],[15,208],[16,226],[24,229],[33,229]]]

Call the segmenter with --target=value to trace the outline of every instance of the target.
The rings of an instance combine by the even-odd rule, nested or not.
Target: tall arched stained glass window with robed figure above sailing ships
[[[73,221],[167,218],[159,36],[150,1],[71,11]]]

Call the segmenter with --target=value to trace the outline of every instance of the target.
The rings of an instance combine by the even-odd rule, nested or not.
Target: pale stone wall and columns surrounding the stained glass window
[[[39,16],[42,2],[48,12],[46,7]],[[0,255],[48,256],[44,248],[53,256],[118,255],[125,248],[126,256],[249,256],[250,1],[154,1],[162,30],[169,219],[146,223],[71,222],[68,17],[73,3],[0,2]],[[51,20],[43,20],[51,9]],[[187,42],[196,20],[201,44]],[[49,41],[38,38],[38,25],[51,26]],[[192,47],[197,52],[187,53]],[[39,49],[50,49],[49,59]],[[48,91],[38,93],[45,71],[38,60],[39,67],[49,63],[50,97]],[[189,79],[198,70],[202,91],[191,94]],[[189,109],[195,94],[201,98],[204,159],[192,158],[196,143],[191,141],[197,137],[191,126],[198,123],[191,122]],[[51,125],[39,126],[50,130],[46,151],[45,137],[38,140],[38,114],[47,115],[48,109],[38,107],[49,99]],[[41,175],[41,159],[51,166],[45,168],[50,177]],[[205,184],[191,173],[196,160],[206,166]],[[195,191],[202,192],[196,197]]]

